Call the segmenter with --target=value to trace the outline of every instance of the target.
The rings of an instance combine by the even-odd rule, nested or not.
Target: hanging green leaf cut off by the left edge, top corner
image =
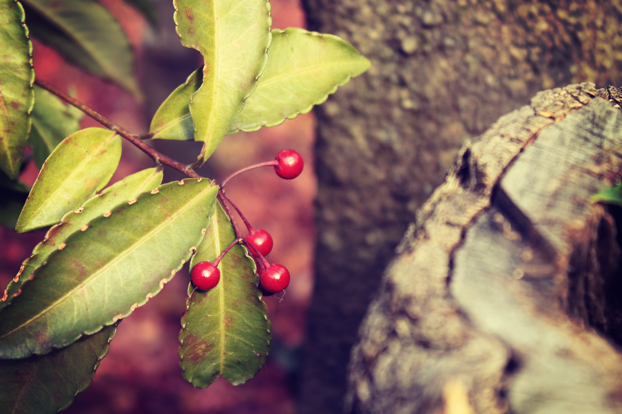
[[[9,178],[17,177],[24,156],[34,80],[24,9],[15,0],[0,0],[0,169]]]

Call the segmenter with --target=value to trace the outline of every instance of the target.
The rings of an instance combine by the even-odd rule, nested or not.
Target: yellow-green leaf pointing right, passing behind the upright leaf
[[[257,89],[231,124],[228,134],[274,127],[306,114],[329,94],[369,68],[369,60],[345,40],[297,27],[272,30],[266,69]],[[151,138],[193,140],[190,96],[201,86],[202,73],[193,72],[170,94],[151,122]]]

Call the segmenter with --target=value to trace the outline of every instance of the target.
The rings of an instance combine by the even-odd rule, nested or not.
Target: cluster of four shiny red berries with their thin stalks
[[[249,166],[247,168],[236,171],[236,173],[231,174],[228,178],[223,181],[221,184],[221,189],[225,186],[226,182],[229,181],[234,176],[239,173],[243,173],[244,171],[248,171],[252,168],[257,168],[260,166],[274,166],[274,171],[276,174],[284,179],[294,179],[302,173],[302,168],[304,168],[304,161],[302,160],[302,156],[300,156],[297,151],[294,150],[283,150],[274,157],[274,161],[267,161],[266,163],[256,164],[253,166]],[[192,272],[190,272],[190,276],[192,277],[192,283],[198,288],[202,290],[213,289],[218,285],[220,281],[220,270],[218,270],[218,264],[220,260],[225,256],[225,254],[230,250],[231,247],[236,245],[237,243],[244,243],[249,247],[249,251],[254,256],[255,263],[258,266],[259,271],[259,288],[263,292],[264,296],[273,295],[275,293],[281,292],[287,286],[289,286],[289,271],[282,266],[281,264],[269,264],[267,263],[264,256],[267,256],[272,251],[272,236],[263,230],[262,228],[254,229],[249,223],[244,215],[239,211],[238,207],[236,207],[231,200],[228,199],[222,192],[223,196],[226,200],[228,200],[231,205],[238,211],[240,217],[244,220],[246,227],[248,228],[248,235],[243,239],[238,239],[231,243],[231,245],[223,251],[223,253],[216,258],[214,263],[210,263],[208,261],[202,261],[200,263],[195,264],[192,268]],[[233,217],[231,218],[233,220]],[[236,227],[237,228],[237,227]],[[237,231],[237,230],[236,230]]]

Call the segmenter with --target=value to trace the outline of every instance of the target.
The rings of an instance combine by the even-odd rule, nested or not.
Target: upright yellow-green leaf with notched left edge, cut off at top
[[[194,139],[203,141],[197,165],[221,142],[256,88],[270,45],[270,3],[266,0],[174,0],[182,45],[203,55],[203,84],[190,100]]]

